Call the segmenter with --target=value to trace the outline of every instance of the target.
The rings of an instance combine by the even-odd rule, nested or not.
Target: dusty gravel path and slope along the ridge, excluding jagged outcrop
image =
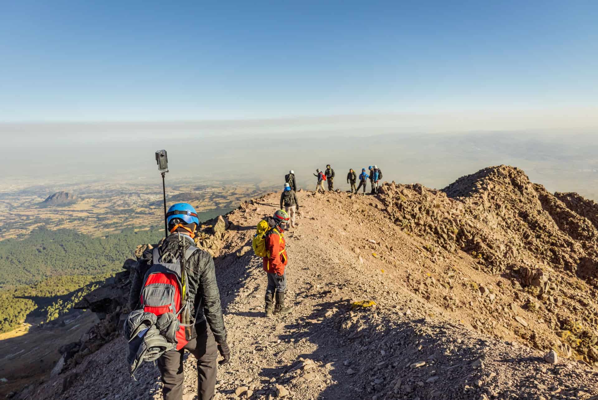
[[[371,196],[298,193],[303,218],[286,233],[292,314],[266,319],[266,276],[252,257],[255,224],[279,194],[243,203],[236,231],[218,251],[230,364],[219,368],[217,399],[588,399],[598,372],[582,362],[543,361],[521,332],[554,335],[521,308],[507,278],[484,273],[457,251],[443,257],[404,233]],[[471,282],[495,288],[494,300]],[[446,283],[446,285],[445,285]],[[492,285],[492,286],[490,286]],[[448,299],[448,300],[447,300]],[[353,301],[376,306],[352,309]],[[450,301],[449,301],[450,300]],[[514,304],[514,306],[511,306]],[[527,326],[517,322],[523,319]],[[69,374],[19,398],[161,398],[159,372],[126,372],[125,343],[109,343]],[[185,362],[193,399],[193,356]],[[29,397],[28,397],[29,396]]]

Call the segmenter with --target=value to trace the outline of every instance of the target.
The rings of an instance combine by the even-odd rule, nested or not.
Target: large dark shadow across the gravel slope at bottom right
[[[570,368],[544,364],[529,348],[485,340],[447,322],[412,319],[396,309],[352,312],[346,301],[318,307],[286,326],[297,334],[279,337],[289,344],[307,340],[318,350],[286,367],[262,370],[298,398],[312,398],[309,390],[323,388],[327,380],[318,398],[536,398],[548,393],[547,387],[559,387],[559,375]],[[575,396],[579,388],[596,393],[598,384],[590,375],[569,375],[572,386],[562,394]]]

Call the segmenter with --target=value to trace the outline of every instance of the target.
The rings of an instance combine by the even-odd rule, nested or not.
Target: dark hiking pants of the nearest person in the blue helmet
[[[162,374],[164,400],[181,400],[183,397],[183,353],[188,350],[197,359],[197,398],[212,400],[216,385],[216,360],[218,345],[206,321],[196,326],[197,337],[189,341],[181,350],[170,350],[158,358],[158,368]]]

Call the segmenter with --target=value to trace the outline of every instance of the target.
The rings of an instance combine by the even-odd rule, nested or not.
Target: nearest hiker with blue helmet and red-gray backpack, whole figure
[[[175,328],[178,327],[176,347],[158,358],[164,400],[182,399],[185,349],[197,359],[199,399],[211,400],[215,395],[218,352],[224,357],[219,364],[230,360],[214,262],[208,252],[195,247],[193,239],[199,219],[190,204],[171,206],[166,213],[166,222],[170,235],[160,246],[145,251],[132,268],[129,307],[136,310],[131,314],[142,313],[138,320],[144,319],[143,316],[151,317],[149,323],[155,316],[160,322],[163,314],[170,316],[167,323],[175,319]],[[155,326],[137,329],[138,334],[133,335],[130,343],[147,332],[163,334],[159,326],[155,330],[152,328]],[[171,337],[169,341],[172,341],[172,335],[163,335]],[[145,346],[152,343],[156,343],[155,339]]]

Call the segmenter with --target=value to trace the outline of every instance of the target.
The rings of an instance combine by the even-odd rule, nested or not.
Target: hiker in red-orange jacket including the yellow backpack
[[[268,276],[266,288],[266,317],[291,312],[285,306],[286,273],[288,263],[283,224],[289,221],[284,210],[278,210],[273,216],[264,218],[257,225],[257,233],[252,241],[255,255],[262,257],[264,271]]]

